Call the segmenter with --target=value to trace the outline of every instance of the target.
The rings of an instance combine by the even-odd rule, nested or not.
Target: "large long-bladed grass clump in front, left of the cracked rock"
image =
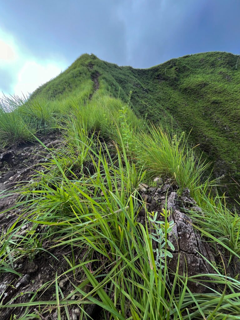
[[[96,143],[93,137],[89,139],[92,144]],[[216,274],[204,275],[209,280],[201,282],[198,275],[180,276],[177,266],[174,281],[170,283],[166,259],[159,260],[158,267],[148,224],[141,225],[136,220],[139,210],[145,206],[137,191],[144,173],[132,165],[124,144],[120,148],[123,153],[116,148],[117,160],[113,160],[107,146],[101,146],[100,141],[97,142],[100,148],[95,151],[91,144],[82,143],[92,156],[94,173],[81,171],[75,178],[72,172],[69,178],[71,170],[66,170],[65,165],[61,164],[58,160],[61,154],[58,156],[56,150],[52,154],[55,165],[49,165],[46,172],[39,172],[33,185],[22,190],[22,195],[27,196],[22,202],[25,205],[23,212],[28,212],[28,215],[20,215],[19,223],[8,231],[7,238],[12,240],[6,242],[7,248],[3,247],[2,255],[2,265],[6,267],[11,264],[9,259],[14,263],[18,258],[17,252],[32,255],[33,250],[41,250],[41,246],[33,242],[35,233],[32,231],[37,226],[45,226],[48,228],[42,228],[41,243],[51,241],[52,249],[65,245],[72,248],[72,257],[65,257],[68,268],[56,273],[52,281],[37,289],[29,302],[18,304],[14,297],[8,307],[25,308],[25,316],[35,315],[36,307],[42,316],[49,313],[49,308],[57,308],[60,317],[68,315],[66,306],[70,303],[72,307],[79,307],[80,317],[83,317],[86,316],[84,305],[95,303],[102,308],[101,319],[105,320],[187,320],[210,319],[213,316],[218,320],[222,316],[237,319],[240,312],[238,280],[222,276],[215,268]],[[61,179],[51,170],[54,166],[59,169]],[[147,214],[146,221],[149,218]],[[16,236],[16,231],[27,223],[33,223],[32,230],[24,237]],[[166,215],[163,228],[165,248],[161,248],[161,252],[165,252],[166,256]],[[18,250],[19,247],[26,249]],[[75,250],[79,248],[86,254],[75,260]],[[94,254],[99,258],[92,259]],[[59,280],[70,272],[76,279],[81,276],[82,280],[77,284],[69,280],[74,290],[65,297],[61,293]],[[190,281],[203,286],[208,286],[210,281],[224,285],[225,289],[216,292],[209,287],[211,294],[194,294],[188,289]],[[84,288],[87,284],[91,284],[92,289],[86,293]],[[53,286],[55,299],[42,299],[39,304],[37,293],[44,297]],[[74,295],[79,299],[72,300]]]

